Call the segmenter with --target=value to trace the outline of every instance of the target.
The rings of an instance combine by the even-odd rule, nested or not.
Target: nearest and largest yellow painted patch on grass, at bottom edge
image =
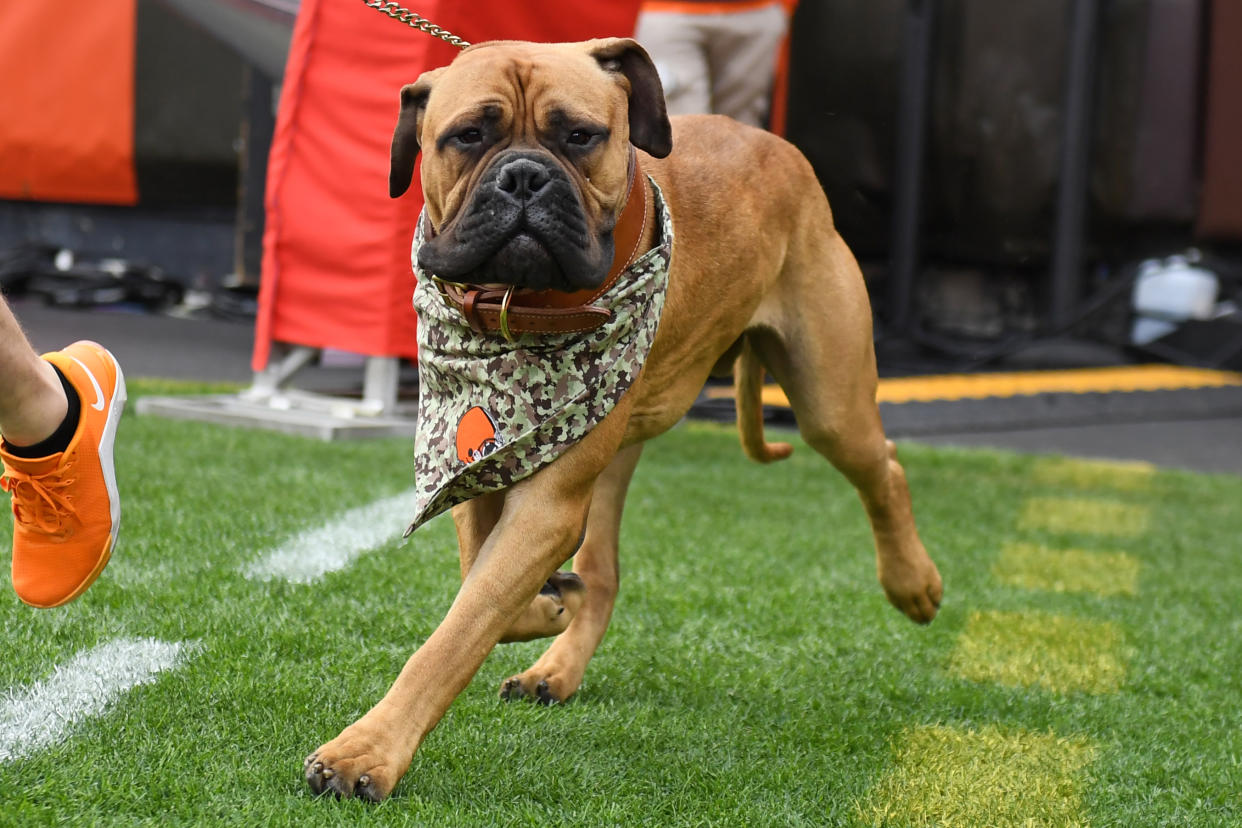
[[[897,761],[857,807],[867,826],[1082,826],[1084,739],[994,726],[903,734]]]

